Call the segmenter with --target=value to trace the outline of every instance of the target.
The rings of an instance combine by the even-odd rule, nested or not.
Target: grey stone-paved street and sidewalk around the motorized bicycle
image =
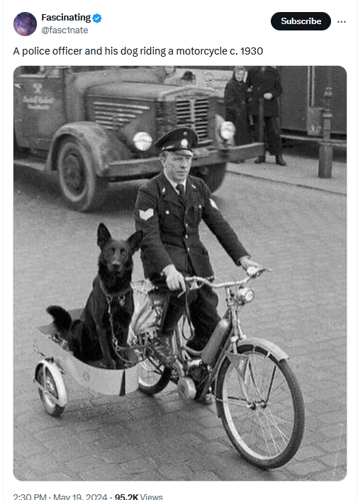
[[[258,261],[265,257],[263,263],[274,269],[257,282],[257,299],[243,319],[253,336],[289,352],[300,380],[306,432],[293,460],[271,471],[245,462],[230,445],[215,406],[182,402],[172,384],[155,397],[133,392],[118,398],[84,390],[66,377],[64,414],[59,419],[45,414],[33,385],[40,358],[33,353],[30,331],[49,322],[48,304],[73,308],[86,299],[97,255],[94,228],[104,220],[131,234],[138,186],[118,186],[101,212],[86,215],[67,210],[57,188],[37,173],[19,171],[14,181],[17,479],[302,482],[345,477],[346,165],[339,157],[332,178],[320,179],[316,159],[301,152],[284,152],[284,157],[286,167],[269,157],[267,164],[230,164],[216,200],[252,255]],[[210,246],[217,275],[234,272],[206,228],[202,239]]]

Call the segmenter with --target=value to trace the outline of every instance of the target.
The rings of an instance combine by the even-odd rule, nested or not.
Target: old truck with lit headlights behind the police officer
[[[154,143],[174,127],[196,130],[191,173],[212,191],[228,161],[263,154],[235,147],[212,89],[166,83],[164,67],[18,67],[14,72],[14,164],[57,174],[62,195],[95,210],[108,183],[160,171]]]

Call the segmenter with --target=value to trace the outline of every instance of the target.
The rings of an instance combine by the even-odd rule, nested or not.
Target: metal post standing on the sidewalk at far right
[[[318,177],[332,177],[333,147],[330,142],[330,131],[332,129],[332,66],[327,69],[327,86],[323,96],[323,141],[320,142],[320,154],[318,159]]]

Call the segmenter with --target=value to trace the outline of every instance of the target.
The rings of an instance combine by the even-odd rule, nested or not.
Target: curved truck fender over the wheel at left
[[[61,144],[66,139],[76,139],[94,159],[96,174],[101,176],[109,168],[111,161],[132,159],[125,142],[118,132],[111,132],[96,122],[67,123],[55,133],[47,157],[47,168],[57,170],[57,157]]]

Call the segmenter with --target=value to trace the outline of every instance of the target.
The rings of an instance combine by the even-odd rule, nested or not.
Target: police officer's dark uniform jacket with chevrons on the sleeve
[[[235,263],[248,255],[201,179],[187,178],[186,207],[164,174],[140,188],[135,205],[135,227],[144,232],[141,258],[146,278],[158,280],[169,264],[174,264],[184,275],[193,271],[206,278],[213,275],[208,251],[199,239],[201,220]]]

